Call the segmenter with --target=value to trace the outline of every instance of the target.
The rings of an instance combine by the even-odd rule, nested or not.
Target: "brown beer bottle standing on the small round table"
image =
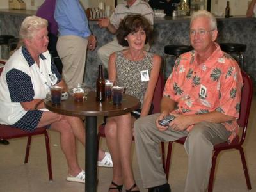
[[[99,65],[99,74],[96,81],[96,100],[105,100],[105,79],[103,77],[102,65]]]

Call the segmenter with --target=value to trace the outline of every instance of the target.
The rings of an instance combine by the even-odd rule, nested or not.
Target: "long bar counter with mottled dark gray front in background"
[[[35,11],[29,10],[0,10],[0,35],[10,34],[18,36],[19,28],[24,17],[34,15]],[[164,17],[154,20],[154,42],[150,52],[164,56],[164,46],[170,44],[189,45],[189,19],[190,17]],[[244,54],[244,70],[256,82],[256,19],[236,16],[230,18],[217,17],[218,38],[217,42],[234,42],[246,44]],[[93,35],[97,36],[97,48],[88,51],[86,60],[86,74],[84,81],[95,86],[98,65],[97,49],[113,39],[107,29],[99,28],[97,21],[89,22]],[[106,74],[106,73],[105,73]]]

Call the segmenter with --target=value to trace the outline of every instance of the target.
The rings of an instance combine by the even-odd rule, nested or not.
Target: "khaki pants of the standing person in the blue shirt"
[[[88,40],[81,36],[60,36],[57,51],[61,58],[62,77],[68,88],[74,88],[77,83],[83,83],[84,67]]]

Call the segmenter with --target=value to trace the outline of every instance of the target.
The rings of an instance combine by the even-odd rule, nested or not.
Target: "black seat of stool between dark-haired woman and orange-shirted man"
[[[176,58],[178,56],[180,56],[180,54],[182,54],[184,52],[189,52],[191,50],[193,50],[193,47],[191,47],[190,45],[166,45],[166,46],[164,46],[164,53],[173,55]]]

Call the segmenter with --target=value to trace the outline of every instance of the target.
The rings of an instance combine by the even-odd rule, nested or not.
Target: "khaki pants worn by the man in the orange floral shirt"
[[[157,116],[159,113],[139,118],[134,123],[135,146],[143,187],[151,188],[167,182],[159,152],[159,142],[175,141],[188,136],[184,145],[188,154],[185,191],[204,192],[209,181],[213,145],[227,141],[230,132],[222,124],[210,122],[196,124],[189,133],[172,131],[170,127],[161,132],[155,124]]]

